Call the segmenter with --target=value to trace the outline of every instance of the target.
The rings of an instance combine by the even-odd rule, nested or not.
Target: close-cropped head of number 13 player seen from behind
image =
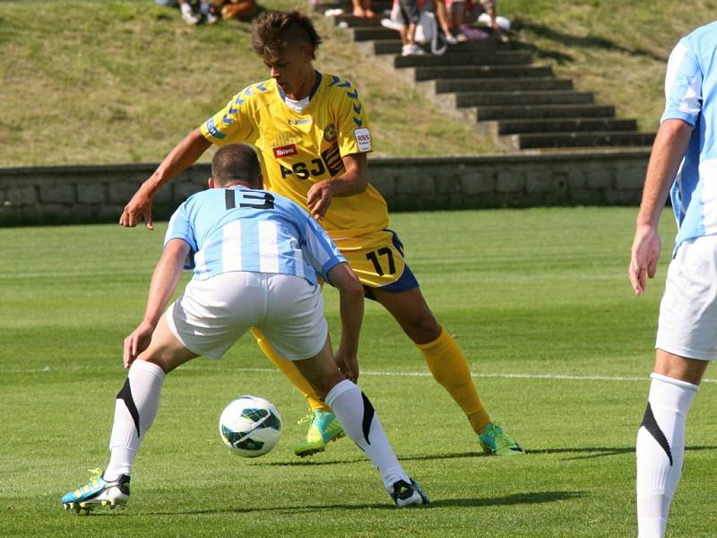
[[[246,143],[228,143],[212,157],[210,187],[244,185],[262,188],[262,167],[256,152]]]

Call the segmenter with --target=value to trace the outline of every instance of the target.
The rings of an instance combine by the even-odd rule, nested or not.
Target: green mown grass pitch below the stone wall
[[[482,456],[418,351],[369,304],[359,382],[409,473],[432,497],[397,511],[350,441],[298,460],[298,393],[249,337],[171,374],[124,512],[60,508],[106,463],[122,339],[143,312],[163,227],[0,229],[2,536],[634,536],[634,442],[665,266],[635,299],[635,211],[402,213],[393,228],[429,303],[471,360],[481,394],[529,456]],[[663,239],[673,225],[665,215]],[[669,249],[669,247],[668,247]],[[330,323],[336,295],[324,291]],[[708,373],[709,377],[709,373]],[[673,536],[714,535],[714,380],[688,422]],[[241,394],[283,414],[280,445],[246,460],[216,421]]]

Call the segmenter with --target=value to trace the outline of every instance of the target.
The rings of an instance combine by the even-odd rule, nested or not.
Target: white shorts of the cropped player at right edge
[[[655,347],[717,360],[717,236],[687,239],[670,262]]]

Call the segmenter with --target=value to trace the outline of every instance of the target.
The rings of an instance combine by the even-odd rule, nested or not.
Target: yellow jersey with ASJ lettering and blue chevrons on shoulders
[[[371,151],[367,111],[346,79],[317,72],[308,104],[289,108],[276,81],[239,91],[201,127],[212,143],[251,143],[262,155],[264,188],[307,209],[309,188],[345,172],[344,155]],[[321,222],[333,239],[384,230],[384,197],[369,185],[351,196],[334,196]]]

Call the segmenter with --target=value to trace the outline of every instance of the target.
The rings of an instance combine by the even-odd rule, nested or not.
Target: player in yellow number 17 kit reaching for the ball
[[[480,446],[497,456],[523,454],[486,412],[467,359],[431,313],[406,264],[401,240],[387,228],[384,198],[368,182],[367,153],[373,141],[366,107],[352,82],[315,70],[320,43],[314,25],[301,13],[260,17],[252,47],[269,69],[269,80],[239,91],[177,144],[127,204],[120,223],[134,226],[151,219],[154,193],[212,144],[254,144],[263,158],[265,187],[300,204],[321,222],[363,283],[367,298],[392,314],[433,377],[461,407]],[[341,437],[340,425],[292,364],[261,334],[255,336],[264,353],[307,396],[312,409],[307,438],[295,446],[296,454],[324,450],[328,441]],[[340,344],[336,356],[345,355]]]

